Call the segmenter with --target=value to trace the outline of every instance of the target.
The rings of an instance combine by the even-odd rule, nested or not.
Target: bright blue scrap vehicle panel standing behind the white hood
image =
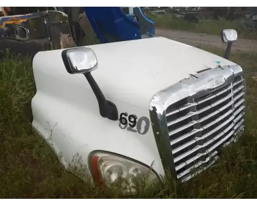
[[[84,7],[84,10],[101,43],[155,36],[153,20],[140,7]]]

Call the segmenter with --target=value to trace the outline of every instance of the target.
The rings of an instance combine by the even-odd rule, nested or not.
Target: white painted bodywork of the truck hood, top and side
[[[217,61],[221,66],[233,65],[222,57],[163,37],[87,47],[96,53],[99,66],[92,75],[106,99],[116,104],[119,115],[126,112],[138,118],[150,119],[149,102],[156,92],[189,74],[216,67]],[[39,52],[33,59],[33,128],[46,139],[51,135],[54,150],[62,153],[64,164],[76,153],[87,163],[91,151],[105,150],[148,166],[154,161],[154,170],[163,175],[152,127],[141,135],[121,129],[119,121],[102,118],[87,80],[66,71],[61,52]]]

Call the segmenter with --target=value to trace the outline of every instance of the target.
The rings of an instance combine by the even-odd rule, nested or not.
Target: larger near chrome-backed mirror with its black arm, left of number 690
[[[91,75],[91,71],[96,70],[98,67],[95,52],[85,47],[66,49],[62,51],[62,59],[68,73],[81,73],[86,77],[98,100],[100,115],[111,120],[118,120],[118,110],[115,104],[105,99],[101,89]]]

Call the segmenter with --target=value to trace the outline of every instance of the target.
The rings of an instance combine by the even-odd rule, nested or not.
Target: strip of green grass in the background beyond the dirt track
[[[233,22],[230,22],[225,19],[202,19],[199,23],[194,24],[186,22],[183,19],[177,19],[168,13],[160,15],[148,14],[148,17],[154,20],[157,28],[192,31],[214,35],[220,35],[221,30],[223,29],[235,29],[238,35],[244,38],[257,39],[257,31],[247,29],[244,26],[244,20],[234,20]]]

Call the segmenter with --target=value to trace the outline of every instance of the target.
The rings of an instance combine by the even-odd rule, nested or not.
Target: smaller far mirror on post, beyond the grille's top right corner
[[[222,42],[228,44],[224,55],[224,58],[228,59],[232,44],[237,39],[237,32],[234,29],[225,29],[225,30],[222,30],[221,37],[222,37]]]

